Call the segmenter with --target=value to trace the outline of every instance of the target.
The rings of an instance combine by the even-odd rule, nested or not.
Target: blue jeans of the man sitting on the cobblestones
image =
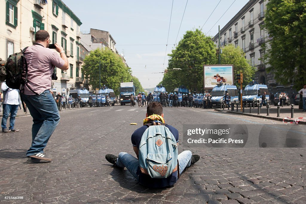
[[[191,156],[192,153],[189,150],[183,151],[181,154],[178,155],[178,163],[180,169],[180,175],[183,173],[186,167],[189,167],[191,164]],[[117,163],[118,167],[126,167],[129,172],[138,180],[139,175],[139,161],[137,158],[133,157],[131,154],[126,152],[120,152],[118,155]]]

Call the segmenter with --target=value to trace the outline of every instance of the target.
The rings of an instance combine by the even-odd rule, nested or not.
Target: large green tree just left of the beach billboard
[[[197,92],[202,91],[203,65],[215,64],[215,53],[215,45],[210,37],[199,29],[187,31],[177,47],[168,54],[168,73],[164,74],[162,85],[169,91],[180,85]]]

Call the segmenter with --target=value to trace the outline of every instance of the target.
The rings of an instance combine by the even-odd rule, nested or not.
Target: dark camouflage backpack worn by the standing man
[[[7,58],[5,66],[1,66],[1,80],[6,80],[6,85],[10,88],[23,90],[25,80],[28,77],[28,65],[24,57],[24,51],[27,48],[28,47],[24,48],[19,53],[11,54],[9,58]],[[25,71],[26,74],[25,80],[22,78],[23,71]]]

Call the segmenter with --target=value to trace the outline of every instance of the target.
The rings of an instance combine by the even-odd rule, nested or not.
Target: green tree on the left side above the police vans
[[[101,84],[99,84],[99,66],[101,69]],[[136,77],[132,77],[130,68],[125,66],[121,57],[108,48],[90,52],[84,59],[82,69],[84,74],[89,76],[89,84],[93,89],[105,84],[107,87],[114,89],[116,95],[120,91],[120,82],[129,82],[133,78],[134,81],[139,83]],[[142,89],[140,83],[137,86]]]

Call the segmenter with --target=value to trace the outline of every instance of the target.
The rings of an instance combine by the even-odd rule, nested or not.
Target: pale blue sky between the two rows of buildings
[[[108,31],[142,87],[155,87],[168,55],[188,30],[215,36],[248,0],[62,0],[81,20],[81,32]],[[217,6],[218,5],[218,6]],[[171,12],[172,11],[172,12]],[[184,13],[185,11],[185,13]],[[183,16],[184,15],[184,16]],[[223,15],[223,16],[222,16]],[[219,20],[220,19],[220,20]],[[146,68],[145,68],[146,67]],[[180,70],[177,70],[180,71]]]

